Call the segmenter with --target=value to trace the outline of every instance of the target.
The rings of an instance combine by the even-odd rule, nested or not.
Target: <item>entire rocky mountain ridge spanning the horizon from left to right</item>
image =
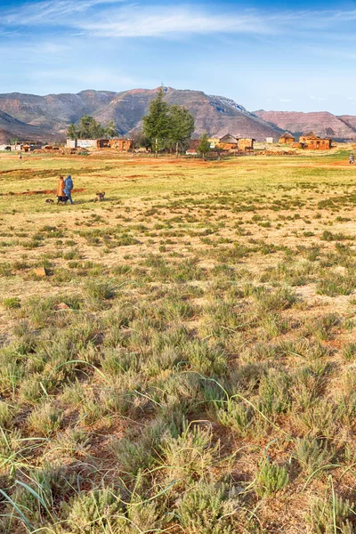
[[[230,98],[208,95],[202,91],[177,90],[164,87],[166,101],[190,109],[195,118],[194,137],[207,132],[214,137],[232,134],[237,137],[253,137],[264,141],[275,140],[286,130],[298,135],[313,131],[320,136],[336,140],[356,140],[356,117],[336,117],[328,111],[249,112]],[[86,113],[107,125],[113,120],[121,135],[130,135],[142,127],[142,117],[147,113],[157,94],[156,89],[132,89],[113,91],[81,91],[80,93],[0,94],[0,142],[11,139],[33,141],[64,141],[70,123],[77,123]]]

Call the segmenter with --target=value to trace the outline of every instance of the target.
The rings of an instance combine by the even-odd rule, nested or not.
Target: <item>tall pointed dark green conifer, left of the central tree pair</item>
[[[159,87],[157,97],[150,102],[149,114],[143,117],[143,134],[150,139],[157,156],[158,150],[164,148],[169,134],[169,106],[164,101],[165,93]]]

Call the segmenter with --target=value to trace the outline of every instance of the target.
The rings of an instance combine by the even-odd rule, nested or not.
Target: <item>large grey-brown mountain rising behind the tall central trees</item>
[[[207,132],[216,137],[232,134],[238,137],[277,137],[279,128],[251,114],[243,106],[223,96],[202,91],[176,90],[165,87],[166,101],[190,109],[195,117],[194,136]],[[86,113],[106,125],[114,120],[119,134],[130,134],[142,126],[157,89],[133,89],[121,93],[110,91],[82,91],[38,96],[35,94],[0,94],[0,110],[16,122],[4,130],[3,138],[28,137],[33,140],[63,140],[70,123],[76,123]],[[11,121],[10,121],[11,122]],[[22,124],[22,129],[20,128]],[[33,129],[36,128],[36,129]]]

